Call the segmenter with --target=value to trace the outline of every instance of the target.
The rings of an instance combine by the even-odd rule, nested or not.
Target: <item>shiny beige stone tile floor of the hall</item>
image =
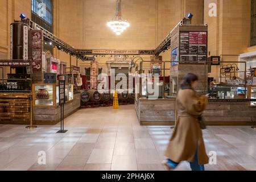
[[[169,126],[140,126],[134,106],[81,109],[60,126],[26,130],[0,125],[0,170],[166,170],[161,164],[171,137]],[[256,170],[256,131],[250,127],[208,127],[207,151],[217,165],[206,170]],[[46,165],[38,152],[46,152]],[[183,162],[176,170],[190,170]]]

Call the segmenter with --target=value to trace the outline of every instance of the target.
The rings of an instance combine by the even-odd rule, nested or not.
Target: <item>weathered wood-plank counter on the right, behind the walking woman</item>
[[[175,125],[175,98],[135,100],[135,110],[141,125]],[[209,100],[204,111],[207,125],[255,126],[256,107],[250,100]]]

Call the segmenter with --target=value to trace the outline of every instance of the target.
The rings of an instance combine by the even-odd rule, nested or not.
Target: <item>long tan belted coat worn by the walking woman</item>
[[[177,122],[165,156],[176,163],[193,162],[198,150],[199,164],[208,164],[203,134],[197,117],[208,104],[206,96],[197,96],[190,89],[177,94]]]

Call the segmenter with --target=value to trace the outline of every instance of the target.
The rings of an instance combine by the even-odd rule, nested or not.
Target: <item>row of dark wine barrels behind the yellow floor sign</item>
[[[119,93],[120,105],[134,104],[134,93]],[[112,106],[114,94],[110,92],[99,93],[97,90],[84,90],[81,94],[81,107]]]

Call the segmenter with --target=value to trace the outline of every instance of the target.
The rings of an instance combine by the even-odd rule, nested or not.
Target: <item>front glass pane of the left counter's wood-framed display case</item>
[[[35,105],[53,106],[53,86],[35,86]]]

